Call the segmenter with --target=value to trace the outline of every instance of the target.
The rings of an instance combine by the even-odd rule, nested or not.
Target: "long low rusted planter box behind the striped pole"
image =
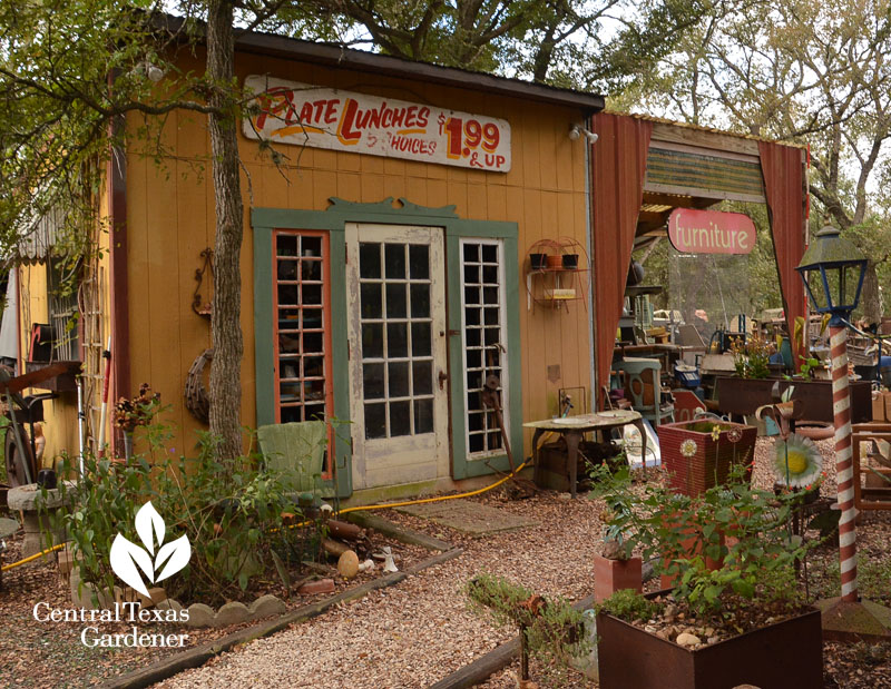
[[[781,378],[737,378],[718,376],[715,393],[722,414],[754,414],[755,410],[771,404],[771,391],[780,383],[780,392],[795,386],[793,396],[803,402],[802,419],[832,423],[832,381],[786,381]],[[872,421],[872,382],[851,381],[851,423]]]

